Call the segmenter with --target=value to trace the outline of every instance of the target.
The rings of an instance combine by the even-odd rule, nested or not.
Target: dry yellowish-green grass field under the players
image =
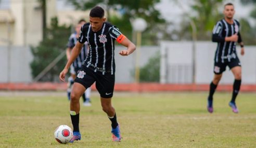
[[[99,96],[81,106],[81,141],[59,144],[57,126],[72,127],[65,92],[0,92],[0,147],[256,147],[256,93],[240,93],[234,114],[231,93],[217,92],[214,113],[206,92],[115,93],[121,142],[112,142]]]

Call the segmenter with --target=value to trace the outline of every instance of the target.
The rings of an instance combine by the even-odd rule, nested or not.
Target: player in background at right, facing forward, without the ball
[[[238,43],[241,47],[241,55],[245,54],[245,49],[239,32],[240,24],[233,19],[235,14],[234,5],[227,3],[224,6],[223,14],[224,19],[216,23],[212,34],[212,41],[217,43],[217,49],[214,58],[214,77],[210,84],[207,109],[208,112],[213,112],[213,94],[221,80],[222,73],[228,66],[235,77],[229,106],[231,106],[234,113],[238,113],[235,101],[241,85],[241,63],[237,56],[236,44]]]

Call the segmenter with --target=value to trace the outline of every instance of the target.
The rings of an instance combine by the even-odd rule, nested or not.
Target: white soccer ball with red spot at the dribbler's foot
[[[62,144],[68,143],[73,137],[72,129],[67,125],[60,125],[54,132],[55,139]]]

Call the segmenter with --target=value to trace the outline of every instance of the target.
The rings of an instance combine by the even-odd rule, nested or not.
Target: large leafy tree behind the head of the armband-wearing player
[[[67,0],[76,9],[87,10],[96,5],[103,6],[108,15],[108,21],[118,26],[118,28],[129,38],[132,36],[132,26],[130,20],[136,17],[144,18],[148,23],[148,28],[143,34],[143,44],[156,44],[157,25],[164,23],[160,17],[160,12],[155,9],[155,4],[160,0]],[[118,13],[110,13],[114,10]]]

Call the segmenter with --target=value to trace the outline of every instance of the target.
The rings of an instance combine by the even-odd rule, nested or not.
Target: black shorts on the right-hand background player
[[[240,63],[238,57],[232,58],[231,61],[229,61],[229,62],[228,62],[228,60],[225,60],[224,63],[222,63],[221,61],[219,61],[219,62],[215,61],[213,72],[215,74],[222,74],[226,70],[226,66],[228,66],[228,68],[231,70],[235,66],[241,66],[241,63]]]

